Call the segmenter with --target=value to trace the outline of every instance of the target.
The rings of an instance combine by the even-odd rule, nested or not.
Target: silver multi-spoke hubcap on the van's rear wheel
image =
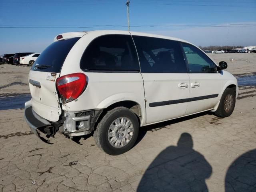
[[[108,141],[116,148],[126,146],[133,135],[133,124],[126,117],[117,118],[108,128]]]

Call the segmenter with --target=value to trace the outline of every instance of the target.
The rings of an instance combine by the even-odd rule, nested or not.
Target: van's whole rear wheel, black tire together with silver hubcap
[[[137,116],[125,107],[117,107],[107,112],[94,131],[94,139],[99,148],[110,155],[127,152],[134,146],[139,132]]]

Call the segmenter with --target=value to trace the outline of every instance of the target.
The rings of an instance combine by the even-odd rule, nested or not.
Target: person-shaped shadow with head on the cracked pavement
[[[207,192],[212,167],[193,149],[192,136],[182,133],[177,146],[163,150],[144,173],[137,192]]]

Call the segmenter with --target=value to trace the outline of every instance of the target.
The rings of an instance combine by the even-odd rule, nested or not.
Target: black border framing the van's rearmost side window
[[[135,52],[136,52],[136,54],[134,54],[134,56],[135,56],[135,59],[137,58],[138,64],[139,64],[139,68],[138,68],[138,69],[134,69],[134,70],[106,70],[106,69],[104,69],[104,70],[101,70],[101,69],[99,69],[99,70],[95,70],[95,69],[94,69],[94,70],[86,70],[86,69],[82,69],[82,68],[81,68],[82,57],[84,56],[86,50],[88,50],[88,47],[92,44],[92,42],[94,42],[94,40],[96,40],[97,38],[100,38],[100,37],[102,37],[102,36],[108,36],[108,35],[125,35],[125,36],[130,36],[130,38],[132,39],[132,41],[131,41],[132,44],[131,44],[131,45],[134,46]],[[83,54],[82,54],[82,56],[81,56],[81,58],[80,58],[79,67],[80,67],[80,69],[81,69],[82,71],[87,72],[87,73],[141,73],[141,70],[140,70],[140,60],[139,60],[139,58],[138,58],[137,48],[136,48],[136,45],[135,45],[135,43],[134,43],[134,40],[133,40],[131,34],[103,34],[103,35],[100,35],[100,36],[95,37],[95,38],[92,39],[92,40],[90,41],[90,43],[86,46],[86,48],[85,48],[85,50],[84,50],[84,52],[83,52]]]

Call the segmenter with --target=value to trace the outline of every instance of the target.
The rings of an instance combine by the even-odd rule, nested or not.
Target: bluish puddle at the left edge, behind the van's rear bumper
[[[31,99],[30,94],[21,94],[10,97],[0,97],[0,110],[22,109],[25,102]]]

